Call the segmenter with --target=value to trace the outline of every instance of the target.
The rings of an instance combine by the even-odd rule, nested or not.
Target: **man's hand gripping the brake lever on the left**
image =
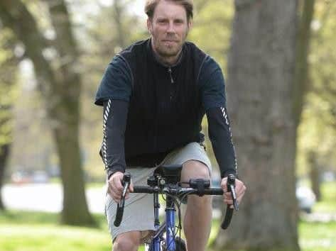
[[[121,184],[122,178],[124,177],[124,174],[122,172],[115,172],[112,174],[111,177],[109,177],[109,187],[107,189],[107,193],[109,196],[112,197],[116,203],[119,203],[121,199],[122,191],[124,190],[124,186]],[[126,191],[126,199],[129,199],[129,192],[133,191],[133,184],[129,184],[129,189]]]

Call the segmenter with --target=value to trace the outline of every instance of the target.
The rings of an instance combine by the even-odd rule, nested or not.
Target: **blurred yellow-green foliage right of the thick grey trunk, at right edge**
[[[318,153],[320,166],[336,170],[336,4],[317,0],[308,64],[310,91],[298,134],[298,174],[307,172],[308,153]]]

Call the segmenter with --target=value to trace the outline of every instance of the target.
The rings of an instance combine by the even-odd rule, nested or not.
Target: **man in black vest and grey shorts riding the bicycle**
[[[113,58],[95,100],[104,106],[100,153],[107,169],[105,211],[113,250],[137,250],[154,230],[149,194],[128,194],[124,220],[118,228],[113,225],[125,169],[136,185],[146,184],[160,164],[183,164],[182,182],[210,179],[211,163],[200,133],[205,113],[224,191],[227,175],[237,176],[222,71],[212,57],[185,41],[193,1],[146,0],[145,11],[151,37]],[[245,189],[236,179],[238,202]],[[224,194],[224,203],[232,204],[229,193]],[[188,250],[205,250],[211,205],[210,196],[188,196],[183,221]]]

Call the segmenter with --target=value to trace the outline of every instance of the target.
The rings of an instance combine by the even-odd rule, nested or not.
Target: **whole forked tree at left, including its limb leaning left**
[[[38,86],[45,97],[45,109],[60,159],[62,221],[70,225],[92,225],[94,220],[87,208],[78,140],[81,79],[76,68],[77,44],[65,2],[50,0],[45,3],[56,34],[51,45],[22,1],[0,1],[0,18],[25,46],[26,56],[33,62]],[[57,51],[55,62],[43,55],[50,47]]]

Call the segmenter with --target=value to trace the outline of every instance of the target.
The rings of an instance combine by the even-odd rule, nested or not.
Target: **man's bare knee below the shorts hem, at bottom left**
[[[113,251],[136,251],[140,245],[141,232],[131,231],[121,233],[116,236],[114,240],[112,250]]]

